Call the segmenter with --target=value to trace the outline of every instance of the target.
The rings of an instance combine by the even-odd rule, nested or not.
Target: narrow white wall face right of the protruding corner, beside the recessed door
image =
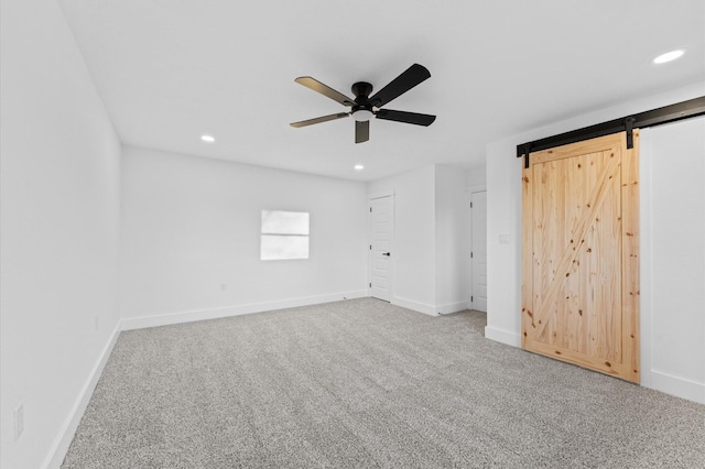
[[[436,310],[455,313],[468,307],[469,204],[467,174],[458,168],[435,166]]]

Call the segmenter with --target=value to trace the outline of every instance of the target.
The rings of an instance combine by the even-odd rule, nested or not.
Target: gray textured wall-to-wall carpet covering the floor
[[[122,332],[63,468],[704,468],[705,406],[365,298]]]

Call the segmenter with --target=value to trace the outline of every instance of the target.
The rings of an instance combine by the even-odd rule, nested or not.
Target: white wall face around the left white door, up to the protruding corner
[[[391,303],[436,314],[434,166],[368,183],[367,194],[394,195]]]

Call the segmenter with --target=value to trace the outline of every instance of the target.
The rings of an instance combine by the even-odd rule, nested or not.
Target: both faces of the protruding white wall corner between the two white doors
[[[394,195],[392,304],[430,315],[467,307],[467,177],[429,165],[368,183],[368,197]]]

